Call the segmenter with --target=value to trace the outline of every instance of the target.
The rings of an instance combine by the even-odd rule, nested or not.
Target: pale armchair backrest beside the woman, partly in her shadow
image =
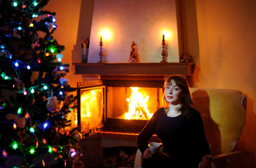
[[[203,118],[212,155],[234,150],[246,123],[246,97],[238,90],[191,87],[196,109]]]

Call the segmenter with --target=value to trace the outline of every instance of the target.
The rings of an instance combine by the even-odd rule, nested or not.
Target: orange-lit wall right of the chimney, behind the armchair
[[[194,87],[241,90],[248,96],[247,124],[236,148],[243,154],[233,159],[233,167],[255,167],[256,1],[196,0],[195,4],[198,38],[188,40],[188,46],[198,41],[198,48],[187,48],[196,53],[191,82]]]

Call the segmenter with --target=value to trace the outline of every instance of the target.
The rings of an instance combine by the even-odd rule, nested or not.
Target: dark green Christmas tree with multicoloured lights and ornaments
[[[65,165],[79,153],[81,134],[67,118],[76,108],[76,88],[65,78],[65,47],[53,38],[56,13],[42,10],[48,2],[0,0],[0,151],[2,158],[24,157],[13,167],[32,167],[41,155]]]

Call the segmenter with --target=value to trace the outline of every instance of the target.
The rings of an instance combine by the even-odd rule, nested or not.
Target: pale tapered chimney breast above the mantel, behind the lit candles
[[[89,62],[99,60],[100,33],[105,29],[110,31],[110,38],[103,36],[105,62],[129,62],[132,41],[141,62],[160,62],[163,30],[171,34],[165,36],[169,45],[167,61],[179,62],[175,0],[96,0]]]

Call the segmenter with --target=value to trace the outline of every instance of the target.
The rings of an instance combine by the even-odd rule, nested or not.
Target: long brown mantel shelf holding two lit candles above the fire
[[[74,63],[75,74],[167,76],[193,73],[191,62],[177,63]]]

